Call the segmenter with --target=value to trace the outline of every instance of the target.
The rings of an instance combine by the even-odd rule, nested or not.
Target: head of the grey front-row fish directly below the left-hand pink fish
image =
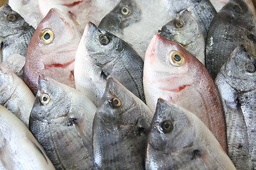
[[[36,99],[31,111],[31,120],[50,121],[66,117],[70,108],[70,102],[62,86],[53,79],[41,75],[38,79],[39,86]],[[60,107],[61,106],[61,107]],[[65,111],[60,108],[65,108]]]

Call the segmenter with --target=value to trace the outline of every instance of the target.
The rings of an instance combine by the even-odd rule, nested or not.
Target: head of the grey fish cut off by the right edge
[[[238,91],[250,91],[256,87],[256,60],[243,45],[233,50],[221,72],[228,84]]]

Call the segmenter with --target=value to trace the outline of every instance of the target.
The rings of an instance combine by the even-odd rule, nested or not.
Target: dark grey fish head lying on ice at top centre
[[[99,28],[110,31],[111,33],[123,33],[132,23],[137,23],[142,17],[142,11],[135,0],[122,0],[108,13]]]

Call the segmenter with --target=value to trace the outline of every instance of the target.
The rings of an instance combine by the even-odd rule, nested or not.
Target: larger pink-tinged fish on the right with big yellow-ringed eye
[[[177,42],[155,35],[144,60],[146,103],[155,111],[158,98],[186,108],[200,118],[227,152],[223,106],[206,67]]]

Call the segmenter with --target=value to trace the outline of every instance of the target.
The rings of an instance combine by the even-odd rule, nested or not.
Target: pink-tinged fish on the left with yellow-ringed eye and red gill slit
[[[81,38],[73,21],[58,9],[51,9],[38,25],[26,52],[24,81],[36,94],[38,76],[51,77],[74,87],[75,52]]]

